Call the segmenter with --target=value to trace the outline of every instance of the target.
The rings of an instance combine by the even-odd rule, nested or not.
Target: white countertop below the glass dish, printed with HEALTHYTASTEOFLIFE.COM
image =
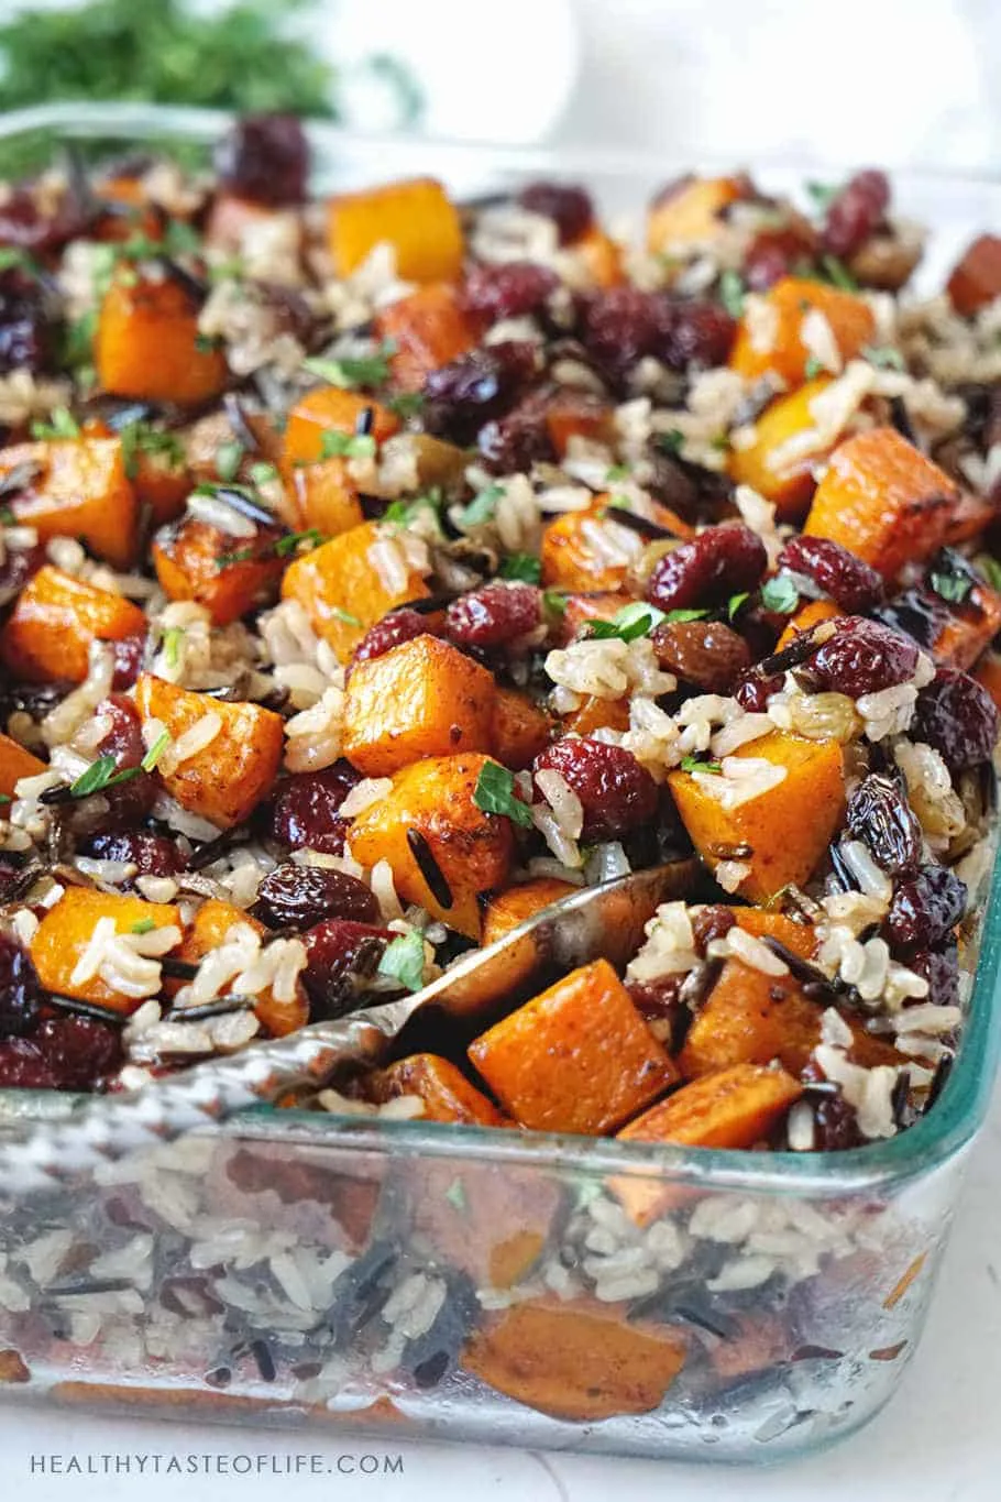
[[[635,1460],[596,1460],[528,1454],[482,1446],[444,1446],[353,1440],[345,1431],[260,1431],[216,1425],[99,1419],[66,1410],[0,1406],[0,1481],[26,1502],[101,1497],[143,1502],[212,1497],[212,1502],[273,1502],[275,1488],[294,1488],[296,1502],[386,1497],[407,1502],[468,1502],[471,1490],[503,1502],[608,1502],[615,1491],[630,1502],[740,1499],[740,1502],[993,1502],[1001,1472],[1001,1092],[969,1170],[965,1196],[945,1257],[927,1335],[893,1403],[867,1428],[815,1460],[779,1467],[681,1466]],[[995,1263],[996,1259],[996,1263]],[[113,1457],[110,1475],[32,1473],[32,1455]],[[252,1457],[236,1466],[263,1475],[114,1475],[117,1455]],[[285,1473],[299,1461],[300,1473]],[[338,1455],[345,1457],[338,1472]],[[402,1475],[351,1475],[362,1455],[402,1457]],[[315,1458],[314,1458],[315,1457]],[[354,1458],[350,1458],[354,1457]],[[312,1467],[312,1473],[311,1473]],[[278,1469],[278,1475],[275,1475]]]

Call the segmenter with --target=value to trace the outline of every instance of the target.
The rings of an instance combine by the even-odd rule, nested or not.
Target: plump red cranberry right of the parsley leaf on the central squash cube
[[[657,784],[623,746],[567,736],[536,757],[534,771],[558,772],[581,799],[585,840],[618,840],[657,813]]]

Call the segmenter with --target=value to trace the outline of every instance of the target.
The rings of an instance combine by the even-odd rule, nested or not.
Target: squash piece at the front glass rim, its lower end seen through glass
[[[620,1142],[677,1143],[683,1148],[753,1148],[798,1101],[803,1086],[785,1069],[735,1063],[704,1074],[653,1105],[618,1133]],[[638,1226],[648,1226],[692,1191],[656,1179],[621,1175],[609,1182]]]

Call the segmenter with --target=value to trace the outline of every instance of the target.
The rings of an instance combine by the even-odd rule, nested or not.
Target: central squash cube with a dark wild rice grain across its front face
[[[396,772],[393,787],[351,825],[351,855],[362,865],[389,861],[396,891],[407,903],[420,903],[450,928],[480,937],[480,892],[504,886],[515,853],[510,819],[485,814],[473,802],[480,772],[489,757],[432,757]],[[414,856],[408,835],[423,837],[438,870],[438,895]],[[447,895],[450,901],[440,898]]]

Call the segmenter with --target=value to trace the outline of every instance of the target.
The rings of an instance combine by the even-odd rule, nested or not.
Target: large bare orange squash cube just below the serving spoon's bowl
[[[608,960],[572,970],[468,1053],[501,1105],[536,1131],[614,1131],[678,1077]]]

